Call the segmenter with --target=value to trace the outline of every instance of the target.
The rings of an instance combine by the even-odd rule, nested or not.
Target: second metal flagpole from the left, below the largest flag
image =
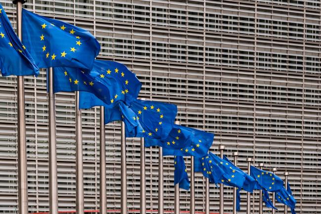
[[[56,152],[56,111],[53,93],[53,70],[48,75],[48,114],[49,114],[49,214],[58,214],[57,152]]]

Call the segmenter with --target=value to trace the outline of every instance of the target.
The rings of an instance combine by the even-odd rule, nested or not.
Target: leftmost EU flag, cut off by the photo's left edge
[[[2,76],[36,75],[39,68],[34,59],[14,33],[10,21],[0,4],[0,70]]]

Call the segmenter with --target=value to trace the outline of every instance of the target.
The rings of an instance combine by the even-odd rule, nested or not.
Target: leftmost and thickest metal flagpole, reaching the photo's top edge
[[[17,13],[17,36],[22,40],[21,10],[25,0],[13,0]],[[18,210],[20,214],[28,214],[28,171],[26,151],[26,121],[25,121],[25,81],[24,76],[17,76],[17,126],[18,126]]]

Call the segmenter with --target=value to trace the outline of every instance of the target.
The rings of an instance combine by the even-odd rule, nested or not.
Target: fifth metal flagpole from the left
[[[121,122],[120,143],[120,214],[127,214],[126,138],[124,122]]]

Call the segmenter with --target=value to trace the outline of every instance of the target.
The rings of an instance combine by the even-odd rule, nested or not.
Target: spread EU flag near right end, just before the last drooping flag
[[[283,180],[273,173],[251,166],[250,174],[251,177],[257,181],[257,185],[254,187],[255,189],[265,189],[269,192],[276,192],[283,187]]]

